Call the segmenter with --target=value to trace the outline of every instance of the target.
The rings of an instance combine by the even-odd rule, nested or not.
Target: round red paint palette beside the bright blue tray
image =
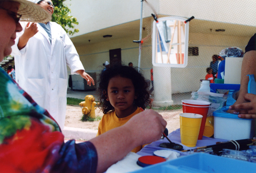
[[[142,156],[138,158],[137,164],[141,167],[146,167],[152,164],[161,163],[165,161],[165,158],[159,156]]]

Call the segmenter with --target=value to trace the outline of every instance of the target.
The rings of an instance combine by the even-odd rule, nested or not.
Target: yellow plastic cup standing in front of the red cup
[[[181,143],[194,147],[197,144],[202,115],[196,113],[180,113]]]

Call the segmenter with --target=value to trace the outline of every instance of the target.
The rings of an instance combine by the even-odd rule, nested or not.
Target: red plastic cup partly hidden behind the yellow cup
[[[182,109],[184,113],[196,113],[203,116],[199,135],[198,135],[198,140],[201,140],[203,138],[203,132],[204,132],[204,127],[206,123],[209,106],[210,105],[195,106],[195,105],[187,105],[182,103]]]

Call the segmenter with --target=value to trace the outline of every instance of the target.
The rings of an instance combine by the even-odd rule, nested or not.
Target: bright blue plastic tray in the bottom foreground
[[[235,173],[255,170],[256,163],[196,153],[148,166],[133,173]]]

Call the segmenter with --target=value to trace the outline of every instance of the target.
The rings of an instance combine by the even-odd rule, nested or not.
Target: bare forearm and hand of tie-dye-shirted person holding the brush
[[[165,127],[166,121],[161,115],[153,110],[146,110],[121,127],[91,139],[98,155],[97,172],[106,171],[135,147],[160,139]]]

